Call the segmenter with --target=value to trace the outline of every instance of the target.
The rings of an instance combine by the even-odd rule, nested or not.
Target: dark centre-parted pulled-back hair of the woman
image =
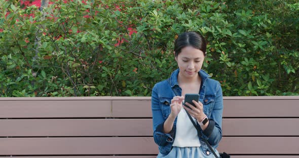
[[[184,32],[178,35],[174,43],[174,55],[175,57],[181,52],[181,49],[187,46],[192,46],[196,49],[201,50],[206,56],[207,43],[206,39],[198,32]]]

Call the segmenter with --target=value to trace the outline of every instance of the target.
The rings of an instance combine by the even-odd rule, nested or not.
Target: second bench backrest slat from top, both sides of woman
[[[222,124],[223,136],[299,136],[294,126],[299,119],[223,119]],[[0,137],[152,136],[152,126],[152,119],[0,120]]]

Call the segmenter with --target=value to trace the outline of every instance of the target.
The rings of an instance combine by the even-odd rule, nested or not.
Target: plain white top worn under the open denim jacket
[[[193,118],[194,119],[194,118]],[[196,119],[194,119],[196,122]],[[177,147],[199,147],[200,142],[197,131],[193,126],[184,108],[177,115],[176,132],[172,146]]]

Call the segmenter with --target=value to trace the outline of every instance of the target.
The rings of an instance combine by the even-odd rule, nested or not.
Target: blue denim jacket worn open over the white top
[[[181,88],[178,86],[177,76],[179,69],[172,72],[170,83],[165,80],[157,83],[152,91],[152,113],[153,113],[153,130],[154,140],[159,146],[159,151],[163,155],[167,155],[172,149],[173,140],[175,139],[175,127],[177,118],[174,121],[173,128],[170,133],[163,133],[164,122],[170,114],[171,99],[175,96],[171,87],[181,95]],[[199,92],[199,101],[203,103],[204,113],[209,119],[209,125],[206,130],[201,131],[202,137],[199,138],[204,154],[208,156],[212,152],[205,144],[203,139],[207,139],[210,145],[215,149],[222,138],[222,110],[223,99],[220,83],[212,80],[204,70],[200,70],[199,75],[202,78],[202,87]],[[197,123],[197,126],[200,126]],[[209,152],[207,152],[209,151]]]

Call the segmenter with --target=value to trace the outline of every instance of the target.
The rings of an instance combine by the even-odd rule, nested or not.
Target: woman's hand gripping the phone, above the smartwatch
[[[192,100],[192,102],[195,104],[196,107],[194,107],[190,103],[185,103],[186,105],[188,105],[192,109],[190,109],[186,106],[183,106],[184,109],[186,109],[190,113],[190,115],[192,117],[196,118],[198,121],[203,120],[206,116],[206,114],[203,112],[203,104],[201,102],[197,102],[195,100]]]

